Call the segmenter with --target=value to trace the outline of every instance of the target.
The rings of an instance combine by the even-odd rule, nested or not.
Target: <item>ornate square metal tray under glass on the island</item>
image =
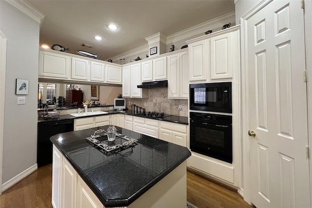
[[[103,131],[101,131],[103,132]],[[95,134],[97,131],[95,132]],[[107,133],[98,134],[98,135],[92,135],[91,137],[87,137],[86,139],[90,141],[92,144],[94,144],[96,147],[99,147],[100,149],[104,150],[105,152],[112,152],[116,150],[123,150],[127,149],[131,146],[137,145],[135,142],[137,142],[137,139],[133,139],[131,137],[127,137],[125,135],[122,135],[120,133],[116,133],[116,139],[114,141],[109,141],[107,139]]]

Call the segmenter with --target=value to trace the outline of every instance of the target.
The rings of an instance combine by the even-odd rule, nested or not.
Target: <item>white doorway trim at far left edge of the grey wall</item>
[[[3,132],[4,132],[4,93],[6,70],[6,44],[7,39],[0,31],[0,194],[2,193],[2,156],[3,156]]]

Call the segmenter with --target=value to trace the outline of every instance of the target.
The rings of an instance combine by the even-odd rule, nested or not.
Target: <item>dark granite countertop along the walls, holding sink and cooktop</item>
[[[81,116],[81,117],[75,117],[70,114],[65,114],[65,115],[59,115],[57,118],[52,118],[52,119],[47,119],[47,118],[38,118],[38,122],[47,122],[47,121],[61,121],[61,120],[67,120],[67,119],[79,119],[79,118],[86,118],[86,117],[93,117],[93,116],[104,116],[104,115],[110,115],[110,114],[115,114],[115,113],[123,113],[126,115],[131,115],[131,116],[138,116],[138,117],[144,117],[148,119],[156,119],[159,121],[168,121],[168,122],[175,122],[175,123],[180,123],[180,124],[189,124],[189,119],[187,116],[174,116],[170,115],[168,117],[164,117],[163,119],[159,118],[151,118],[143,115],[139,115],[136,113],[133,113],[132,110],[125,110],[125,111],[115,111],[115,110],[105,110],[108,114],[102,114],[102,115],[92,115],[92,116]]]

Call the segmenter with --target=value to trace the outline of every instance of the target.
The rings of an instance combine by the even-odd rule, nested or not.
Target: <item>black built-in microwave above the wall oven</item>
[[[232,113],[232,82],[190,84],[190,110]]]

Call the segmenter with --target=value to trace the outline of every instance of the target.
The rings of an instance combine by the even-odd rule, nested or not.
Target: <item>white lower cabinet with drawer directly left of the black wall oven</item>
[[[159,121],[159,139],[187,147],[187,125]]]

